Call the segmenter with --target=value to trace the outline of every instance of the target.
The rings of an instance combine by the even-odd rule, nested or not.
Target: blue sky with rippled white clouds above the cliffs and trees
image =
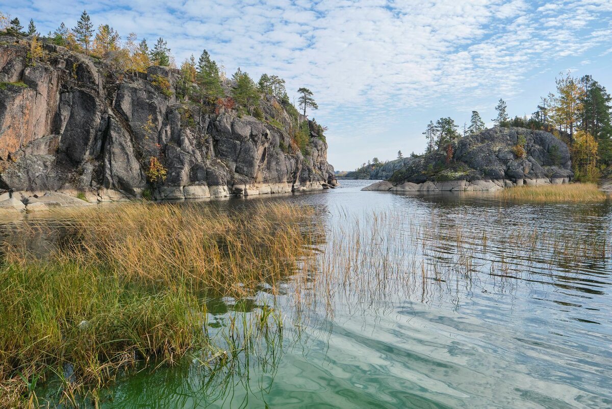
[[[83,9],[124,39],[163,37],[178,65],[206,48],[228,77],[280,75],[292,100],[311,89],[336,170],[423,152],[442,116],[490,126],[500,98],[530,115],[560,72],[612,91],[612,0],[0,0],[43,34]]]

